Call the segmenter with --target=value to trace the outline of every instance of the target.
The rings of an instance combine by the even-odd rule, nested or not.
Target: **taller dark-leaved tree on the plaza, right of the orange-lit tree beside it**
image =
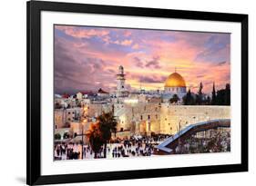
[[[101,137],[104,142],[104,158],[107,157],[107,144],[111,139],[112,132],[116,134],[118,122],[114,116],[113,112],[102,113],[97,117],[99,123],[99,130],[101,132]]]

